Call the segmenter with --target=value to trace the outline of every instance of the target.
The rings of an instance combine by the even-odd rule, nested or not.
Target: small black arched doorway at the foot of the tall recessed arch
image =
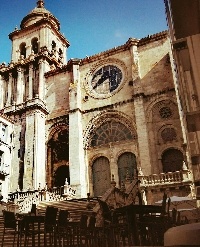
[[[54,175],[54,186],[55,187],[63,186],[65,184],[66,178],[67,178],[68,183],[70,184],[69,166],[63,165],[63,166],[58,167]]]

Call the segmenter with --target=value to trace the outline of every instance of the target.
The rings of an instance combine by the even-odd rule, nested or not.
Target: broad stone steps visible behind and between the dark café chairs
[[[87,199],[73,199],[68,201],[51,201],[51,202],[40,202],[37,206],[37,212],[38,214],[44,215],[45,210],[47,206],[54,206],[57,207],[58,210],[65,209],[68,210],[70,213],[70,217],[73,221],[79,221],[82,213],[90,214],[92,211],[92,207],[94,207],[97,204],[96,199],[91,199],[89,202],[89,208],[88,209],[88,201]],[[2,215],[2,209],[5,209],[5,206],[0,208],[0,239],[2,239],[3,236],[3,215]],[[38,246],[37,238],[35,238],[36,244],[35,246]],[[44,236],[41,235],[41,247],[44,246]],[[1,242],[0,242],[1,244]],[[13,235],[6,234],[4,238],[4,245],[3,247],[12,247],[13,246]],[[17,237],[15,240],[15,245],[17,246]],[[22,242],[23,246],[23,242]],[[29,246],[32,247],[31,240],[29,241]],[[48,246],[48,245],[47,245]]]

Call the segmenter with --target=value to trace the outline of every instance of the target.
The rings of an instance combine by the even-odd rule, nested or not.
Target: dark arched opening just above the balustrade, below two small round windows
[[[182,170],[183,154],[177,149],[168,149],[162,155],[163,172],[175,172]]]

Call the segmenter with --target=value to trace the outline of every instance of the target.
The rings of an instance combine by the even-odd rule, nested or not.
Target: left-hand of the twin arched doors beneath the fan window
[[[94,196],[102,196],[111,186],[109,160],[101,156],[92,165]]]

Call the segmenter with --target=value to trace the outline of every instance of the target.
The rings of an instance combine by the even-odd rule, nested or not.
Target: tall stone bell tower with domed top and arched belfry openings
[[[69,42],[60,23],[39,0],[9,34],[11,62],[0,64],[0,111],[14,120],[10,191],[45,186],[44,74],[66,63]]]

